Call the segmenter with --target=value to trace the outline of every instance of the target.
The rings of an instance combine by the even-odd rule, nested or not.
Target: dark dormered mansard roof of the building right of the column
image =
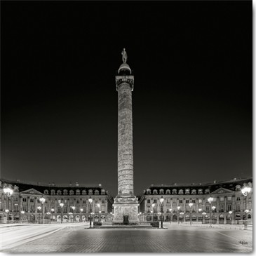
[[[198,191],[198,189],[203,189],[203,194],[205,194],[206,189],[209,189],[210,193],[212,193],[213,191],[216,191],[217,189],[220,189],[220,188],[235,191],[237,185],[240,185],[241,187],[243,187],[243,184],[248,184],[248,182],[252,183],[252,177],[239,178],[239,179],[233,179],[233,180],[227,180],[227,181],[221,181],[221,182],[205,183],[205,184],[176,184],[176,183],[170,184],[170,185],[166,185],[166,184],[154,185],[154,184],[152,184],[148,189],[151,190],[151,194],[153,194],[154,190],[158,191],[158,194],[159,194],[160,189],[163,189],[163,191],[164,191],[163,194],[166,194],[166,191],[168,189],[170,190],[171,194],[173,194],[172,193],[173,189],[177,190],[177,194],[180,189],[182,189],[184,192],[186,189],[189,189],[190,192],[192,189],[196,189],[196,191]],[[146,189],[144,191],[144,194],[147,194],[148,189]]]

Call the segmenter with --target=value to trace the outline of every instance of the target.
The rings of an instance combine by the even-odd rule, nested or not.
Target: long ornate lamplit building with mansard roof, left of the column
[[[4,188],[11,188],[7,195]],[[42,199],[43,198],[43,199]],[[90,203],[91,202],[91,203]],[[85,222],[112,220],[113,198],[101,185],[58,187],[0,181],[0,222]]]

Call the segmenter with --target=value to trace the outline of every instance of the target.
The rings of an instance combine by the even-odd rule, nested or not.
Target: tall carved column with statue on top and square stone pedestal
[[[133,194],[133,105],[134,76],[127,62],[126,49],[123,63],[116,75],[118,91],[118,195],[114,199],[114,223],[137,224],[137,198]]]

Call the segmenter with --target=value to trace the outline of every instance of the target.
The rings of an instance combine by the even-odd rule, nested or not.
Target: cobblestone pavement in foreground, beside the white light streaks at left
[[[2,252],[252,252],[252,231],[177,225],[152,230],[65,227]]]

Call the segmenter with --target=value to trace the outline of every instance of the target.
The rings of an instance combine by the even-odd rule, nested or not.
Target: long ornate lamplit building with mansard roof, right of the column
[[[250,187],[247,196],[241,191],[245,186]],[[213,224],[239,224],[247,217],[250,223],[252,178],[198,185],[151,185],[140,198],[140,220],[161,220],[161,216],[168,222],[209,223],[211,218]]]

